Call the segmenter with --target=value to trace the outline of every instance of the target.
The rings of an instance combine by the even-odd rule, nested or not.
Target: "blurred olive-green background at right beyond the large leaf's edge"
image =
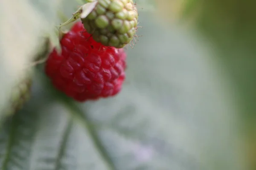
[[[163,2],[160,0],[157,2]],[[166,1],[166,8],[172,4]],[[256,1],[250,0],[185,0],[181,8],[169,15],[191,21],[197,34],[204,36],[232,83],[233,98],[239,113],[239,127],[247,149],[247,159],[256,168]],[[162,11],[162,8],[159,8]],[[166,18],[167,20],[167,18]],[[246,136],[247,135],[247,136]]]

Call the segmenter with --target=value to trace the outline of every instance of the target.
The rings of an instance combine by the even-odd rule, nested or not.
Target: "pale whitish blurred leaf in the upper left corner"
[[[60,0],[2,0],[0,5],[0,118],[13,87],[35,54],[44,45],[45,36],[56,24]],[[39,50],[38,50],[39,49]]]

